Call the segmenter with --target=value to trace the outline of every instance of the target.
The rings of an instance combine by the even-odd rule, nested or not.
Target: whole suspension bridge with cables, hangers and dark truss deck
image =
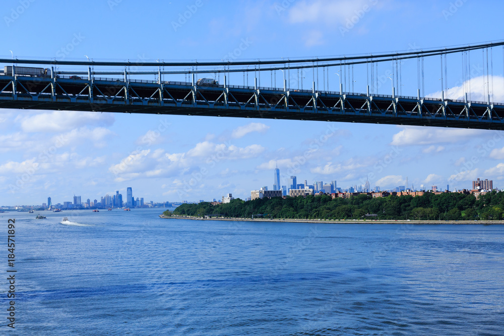
[[[502,130],[504,103],[493,99],[495,87],[504,89],[504,83],[494,83],[493,75],[494,50],[499,47],[504,71],[504,41],[348,57],[254,61],[13,57],[0,59],[0,108]],[[475,65],[479,69],[476,73]],[[479,89],[484,99],[479,101],[471,100],[475,77],[483,79]],[[439,85],[439,96],[425,97],[426,78],[427,86]],[[261,81],[270,80],[269,86],[261,85]],[[389,80],[390,87],[385,85]],[[462,94],[453,97],[451,89],[457,84]],[[403,95],[405,91],[416,94]]]

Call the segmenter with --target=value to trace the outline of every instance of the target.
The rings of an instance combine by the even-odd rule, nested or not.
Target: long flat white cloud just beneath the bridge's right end
[[[433,127],[401,126],[402,131],[392,136],[392,145],[439,145],[440,143],[458,143],[475,136],[488,134],[485,130],[447,129]]]

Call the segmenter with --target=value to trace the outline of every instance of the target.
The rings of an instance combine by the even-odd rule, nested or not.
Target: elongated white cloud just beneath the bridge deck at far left
[[[25,132],[67,132],[87,126],[111,126],[111,113],[52,111],[22,119],[21,128]]]

